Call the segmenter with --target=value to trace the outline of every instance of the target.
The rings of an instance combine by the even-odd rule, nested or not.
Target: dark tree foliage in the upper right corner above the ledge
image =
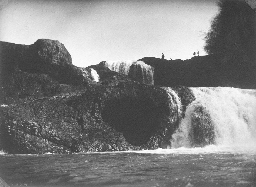
[[[239,60],[255,60],[256,13],[239,0],[220,0],[219,13],[205,34],[204,50]]]

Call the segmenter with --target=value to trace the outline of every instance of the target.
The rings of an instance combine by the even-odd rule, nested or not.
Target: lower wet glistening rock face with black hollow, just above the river
[[[5,104],[0,145],[8,153],[155,149],[168,145],[163,139],[177,126],[166,91],[139,84],[6,98]]]

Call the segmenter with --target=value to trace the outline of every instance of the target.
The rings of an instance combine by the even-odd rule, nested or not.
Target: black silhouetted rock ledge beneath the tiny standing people
[[[256,61],[227,61],[219,54],[188,60],[139,59],[155,68],[154,83],[161,86],[256,88]]]

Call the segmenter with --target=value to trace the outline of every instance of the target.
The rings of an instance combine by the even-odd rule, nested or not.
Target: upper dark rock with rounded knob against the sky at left
[[[60,84],[90,84],[83,68],[72,65],[65,46],[59,41],[38,39],[32,45],[0,42],[1,80],[6,81],[14,70],[27,73],[47,74]]]

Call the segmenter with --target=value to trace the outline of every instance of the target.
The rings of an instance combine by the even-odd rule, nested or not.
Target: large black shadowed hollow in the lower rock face
[[[124,97],[107,102],[102,119],[132,145],[146,144],[161,127],[158,108],[150,98]]]

